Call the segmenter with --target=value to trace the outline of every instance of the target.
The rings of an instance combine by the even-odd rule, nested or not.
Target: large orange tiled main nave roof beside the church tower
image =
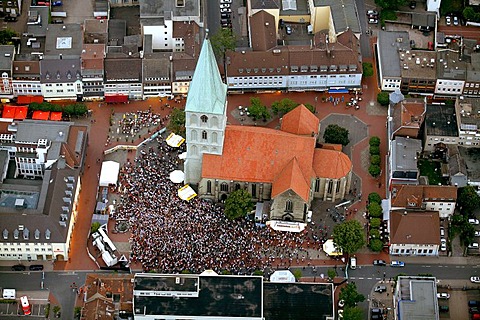
[[[312,177],[314,148],[311,136],[227,125],[223,155],[203,155],[202,177],[272,183],[294,157],[304,176]]]

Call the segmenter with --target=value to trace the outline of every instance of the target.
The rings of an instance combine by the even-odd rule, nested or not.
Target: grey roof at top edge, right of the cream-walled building
[[[315,7],[323,6],[330,6],[336,33],[347,29],[354,33],[361,32],[357,17],[357,5],[354,0],[315,0]]]

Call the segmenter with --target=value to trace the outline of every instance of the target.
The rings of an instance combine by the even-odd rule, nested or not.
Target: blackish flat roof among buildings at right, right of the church
[[[425,131],[427,136],[458,137],[455,107],[427,104]]]

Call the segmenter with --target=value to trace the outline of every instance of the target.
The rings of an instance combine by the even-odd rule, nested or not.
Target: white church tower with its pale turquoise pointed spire
[[[203,41],[185,106],[185,182],[198,184],[204,153],[221,155],[227,122],[227,85],[222,82],[210,40]]]

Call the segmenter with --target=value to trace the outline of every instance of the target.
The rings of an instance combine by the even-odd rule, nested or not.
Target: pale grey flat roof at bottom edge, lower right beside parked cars
[[[438,320],[436,279],[398,277],[398,313],[401,319]]]

